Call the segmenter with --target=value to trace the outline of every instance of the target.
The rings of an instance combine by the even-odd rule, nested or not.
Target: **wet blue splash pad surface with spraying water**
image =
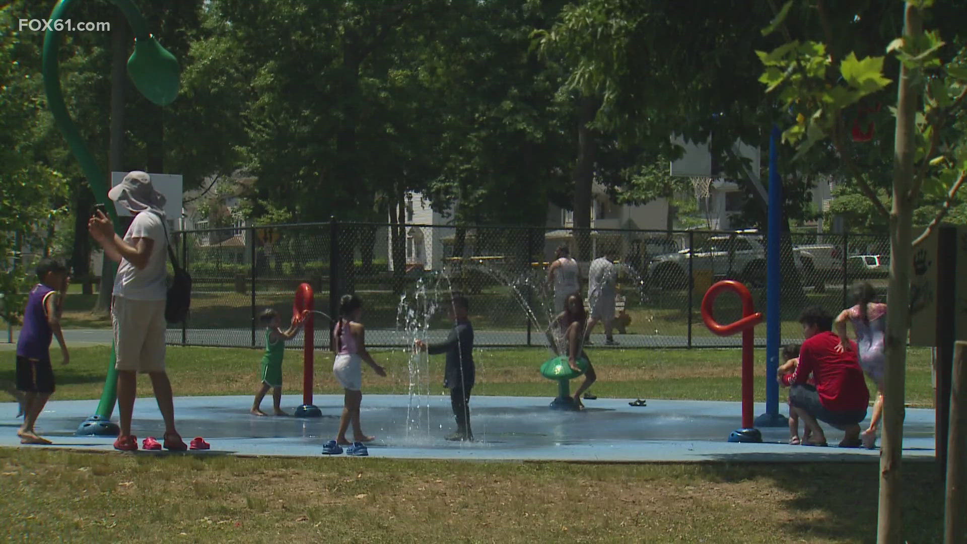
[[[439,278],[436,284],[427,281],[421,289],[401,298],[396,334],[405,337],[400,339],[403,345],[409,343],[403,340],[425,337],[430,330],[429,316],[443,306],[445,297],[452,292],[445,278]],[[522,290],[521,294],[526,296]],[[311,313],[321,315],[315,310]],[[441,323],[433,323],[434,329],[440,326]],[[325,360],[323,353],[326,352],[319,354]],[[375,354],[378,358],[378,351]],[[533,360],[522,364],[531,372],[538,372],[541,350],[535,349],[534,355]],[[454,425],[450,397],[435,380],[442,360],[433,357],[428,360],[425,354],[411,352],[408,368],[400,369],[404,386],[406,373],[410,377],[403,394],[366,394],[363,419],[366,429],[377,437],[369,444],[370,457],[591,462],[878,460],[876,450],[789,446],[785,443],[785,429],[762,429],[761,442],[727,442],[723,438],[736,428],[738,414],[745,408],[738,402],[652,399],[647,408],[635,408],[629,406],[632,399],[600,398],[578,412],[548,409],[550,394],[495,397],[475,391],[471,400],[475,441],[452,442],[445,439]],[[738,350],[736,357],[739,358]],[[483,353],[477,359],[478,378],[484,383],[486,360]],[[563,377],[565,369],[571,371],[566,360],[557,362],[560,374],[552,376]],[[434,372],[430,373],[431,369]],[[560,380],[555,380],[560,388]],[[547,385],[550,393],[553,389]],[[320,455],[323,443],[336,432],[343,398],[315,395],[311,402],[319,410],[318,417],[251,416],[248,395],[177,398],[175,407],[179,426],[186,433],[203,435],[212,443],[212,450],[196,455],[314,457]],[[300,395],[282,399],[286,409],[304,404],[306,400]],[[94,401],[53,401],[44,413],[40,430],[58,446],[111,450],[112,438],[73,437],[77,418],[89,413],[92,406]],[[15,408],[15,404],[0,405],[0,420],[15,423]],[[904,426],[906,458],[932,460],[933,420],[932,410],[908,409]],[[133,421],[133,432],[139,436],[152,436],[163,428],[152,403],[135,405]],[[9,435],[0,435],[0,445],[18,445],[13,443],[15,435]],[[841,438],[839,435],[835,430],[828,431],[830,440]]]

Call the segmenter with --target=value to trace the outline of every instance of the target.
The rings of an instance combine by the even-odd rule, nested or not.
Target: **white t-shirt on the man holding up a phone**
[[[141,270],[134,267],[127,258],[121,259],[118,273],[114,277],[114,296],[131,300],[164,300],[167,298],[167,269],[165,268],[164,226],[158,214],[141,212],[134,216],[131,227],[124,235],[124,241],[132,246],[134,238],[154,240],[148,264]]]

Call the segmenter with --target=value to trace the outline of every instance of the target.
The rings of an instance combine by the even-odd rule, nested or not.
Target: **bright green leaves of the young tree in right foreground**
[[[790,24],[798,23],[791,16],[783,17]],[[885,226],[883,216],[890,201],[882,190],[889,186],[889,169],[882,166],[892,164],[888,154],[893,151],[893,142],[890,136],[875,134],[874,127],[891,126],[894,109],[880,105],[892,102],[894,77],[887,72],[894,69],[887,68],[888,57],[861,57],[852,50],[845,54],[831,51],[829,40],[835,30],[842,28],[840,25],[830,32],[831,20],[824,20],[828,25],[827,42],[790,41],[771,51],[757,51],[764,69],[759,81],[780,106],[796,115],[796,122],[784,131],[783,139],[797,146],[797,158],[804,158],[815,144],[828,139],[837,159],[846,166],[843,177],[862,189],[866,203],[856,192],[841,194],[834,200],[831,213],[846,216],[850,225],[860,228]],[[909,197],[919,217],[929,215],[926,210],[930,208],[937,216],[938,207],[938,217],[942,217],[942,204],[949,199],[954,203],[955,195],[951,193],[956,193],[957,181],[967,172],[963,126],[951,122],[961,118],[967,93],[964,51],[945,47],[941,34],[938,29],[927,30],[916,37],[896,38],[886,47],[897,64],[911,70],[913,83],[923,97],[922,103],[916,105],[917,165],[915,179],[909,186]],[[875,137],[866,149],[860,147],[866,145],[864,137]],[[865,167],[876,163],[881,166],[873,166],[872,170]]]

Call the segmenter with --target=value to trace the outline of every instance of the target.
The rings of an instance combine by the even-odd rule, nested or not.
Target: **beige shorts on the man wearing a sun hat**
[[[117,370],[164,372],[163,300],[131,300],[115,296],[111,304]]]

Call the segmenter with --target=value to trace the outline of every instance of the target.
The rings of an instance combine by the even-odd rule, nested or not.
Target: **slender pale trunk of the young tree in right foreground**
[[[923,33],[920,12],[906,4],[903,34],[907,40]],[[880,450],[880,500],[877,542],[902,542],[902,503],[900,460],[903,448],[904,389],[906,382],[906,342],[910,320],[910,266],[913,248],[913,206],[910,187],[914,176],[916,151],[915,121],[919,97],[918,71],[900,68],[896,98],[896,136],[894,143],[894,202],[890,213],[890,285],[887,300],[887,368],[883,404],[883,438]]]

